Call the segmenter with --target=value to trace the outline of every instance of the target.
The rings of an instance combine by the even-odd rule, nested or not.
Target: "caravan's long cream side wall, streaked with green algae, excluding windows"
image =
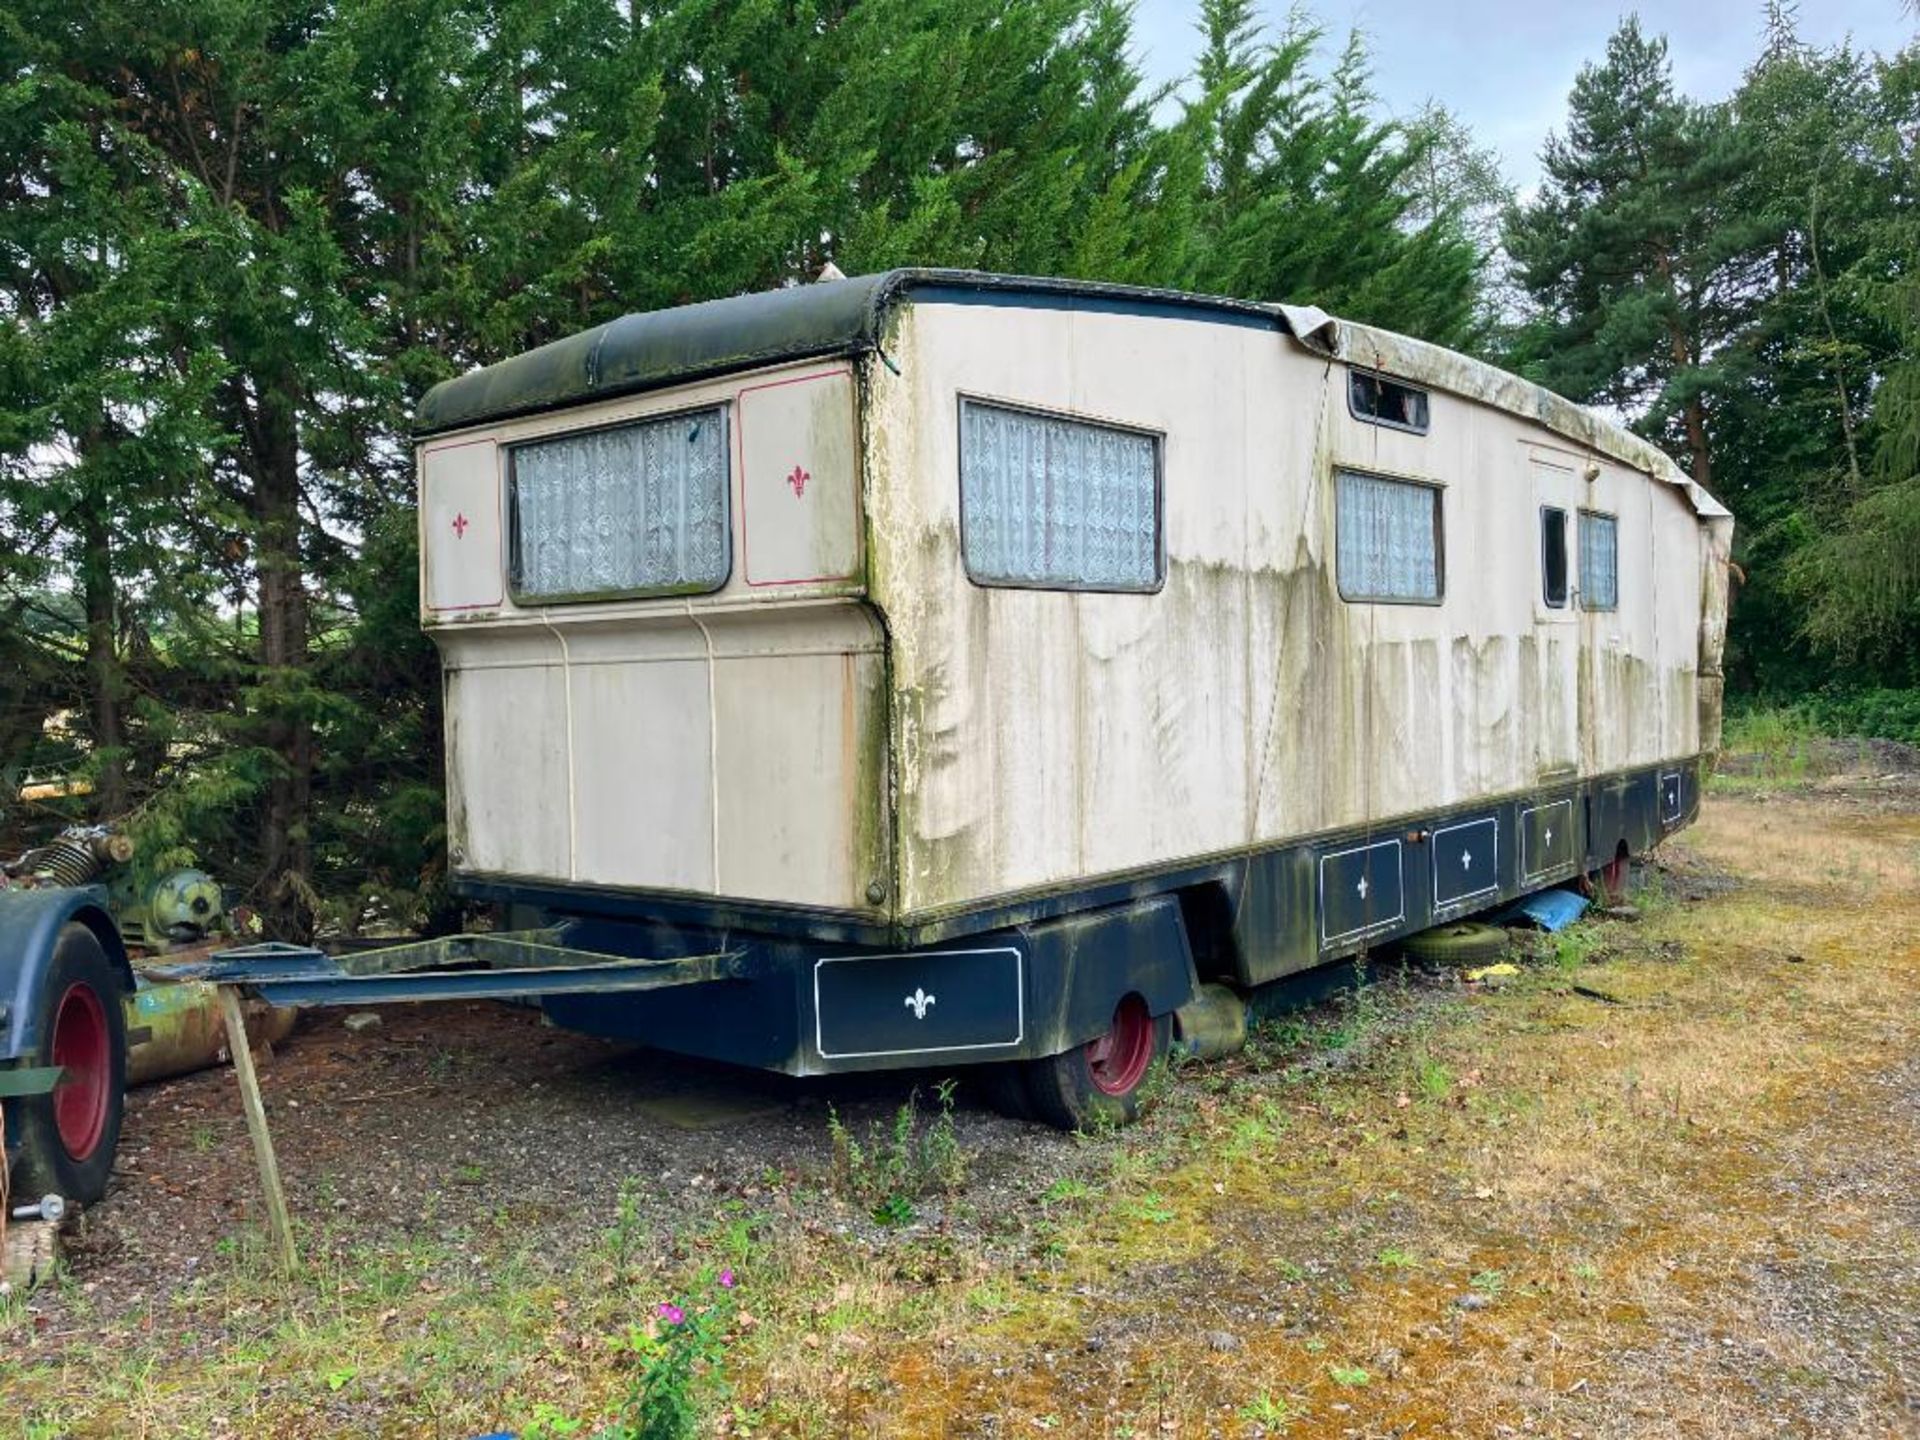
[[[1699,599],[1724,520],[1684,488],[1442,390],[1425,436],[1365,424],[1340,363],[1236,324],[920,298],[889,353],[899,376],[868,371],[870,593],[908,922],[1713,739]],[[962,394],[1162,432],[1164,591],[972,584]],[[1444,486],[1440,605],[1340,599],[1334,467]],[[1619,611],[1544,605],[1542,503],[1619,516]]]

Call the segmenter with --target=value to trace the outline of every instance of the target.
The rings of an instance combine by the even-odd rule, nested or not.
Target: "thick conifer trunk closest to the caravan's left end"
[[[280,772],[267,791],[263,899],[273,933],[313,933],[313,722],[307,716],[307,589],[300,553],[300,430],[286,386],[261,384],[253,513],[265,743]]]

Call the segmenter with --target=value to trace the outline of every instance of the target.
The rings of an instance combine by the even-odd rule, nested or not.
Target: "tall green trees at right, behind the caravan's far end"
[[[1818,50],[1774,8],[1736,94],[1699,106],[1628,19],[1507,217],[1515,363],[1630,415],[1736,513],[1736,695],[1920,684],[1916,134],[1920,50]]]

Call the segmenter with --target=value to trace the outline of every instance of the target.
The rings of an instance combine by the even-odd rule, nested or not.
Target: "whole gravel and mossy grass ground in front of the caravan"
[[[962,1104],[908,1225],[828,1164],[899,1079],[664,1066],[513,1010],[309,1025],[265,1077],[292,1294],[234,1244],[230,1079],[144,1092],[73,1283],[0,1311],[19,1432],[605,1413],[605,1334],[726,1254],[741,1434],[1920,1434],[1910,778],[1715,797],[1642,922],[1323,1006],[1127,1137]]]

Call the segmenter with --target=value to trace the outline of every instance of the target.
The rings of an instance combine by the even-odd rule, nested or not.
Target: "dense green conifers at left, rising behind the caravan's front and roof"
[[[455,924],[407,417],[614,315],[912,263],[1473,340],[1484,154],[1252,15],[1177,104],[1123,0],[0,0],[0,795],[92,785],[0,831]]]

